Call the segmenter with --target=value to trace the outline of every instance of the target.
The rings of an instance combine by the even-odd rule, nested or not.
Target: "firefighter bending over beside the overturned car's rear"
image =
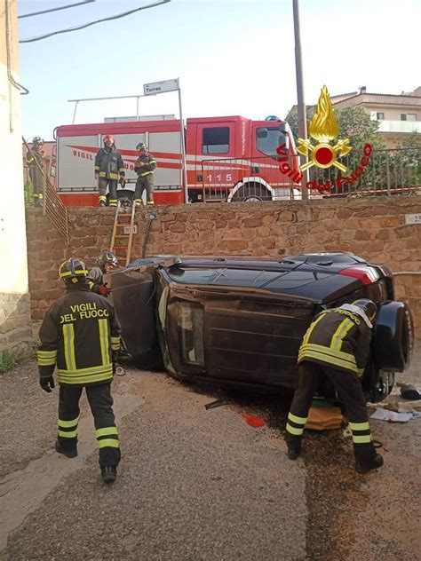
[[[319,313],[306,331],[298,352],[298,383],[288,415],[288,457],[296,460],[314,391],[324,377],[333,383],[353,434],[355,470],[366,473],[383,465],[369,430],[366,401],[359,376],[369,358],[377,307],[366,298]]]

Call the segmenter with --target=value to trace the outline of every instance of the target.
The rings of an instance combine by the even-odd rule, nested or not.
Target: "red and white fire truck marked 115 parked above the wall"
[[[123,156],[128,180],[118,197],[132,198],[138,157],[135,146],[145,142],[155,156],[155,202],[185,201],[180,122],[134,121],[63,125],[56,129],[55,184],[67,206],[97,206],[94,160],[102,139],[111,134]],[[240,116],[187,119],[186,165],[188,201],[275,201],[300,198],[291,179],[279,170],[276,148],[282,144],[290,167],[298,157],[287,122],[277,117],[252,121]]]

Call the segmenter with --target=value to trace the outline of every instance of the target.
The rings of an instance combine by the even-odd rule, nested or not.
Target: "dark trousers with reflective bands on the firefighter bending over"
[[[338,392],[338,397],[344,403],[346,417],[353,434],[353,450],[355,457],[369,457],[375,454],[375,449],[369,430],[369,416],[362,392],[360,379],[353,372],[338,370],[337,368],[316,364],[304,360],[298,365],[297,389],[292,399],[285,439],[287,444],[300,442],[308,418],[314,392],[327,377]]]

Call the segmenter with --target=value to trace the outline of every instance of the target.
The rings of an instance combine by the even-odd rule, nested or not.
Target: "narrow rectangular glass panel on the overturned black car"
[[[204,366],[203,306],[179,302],[179,344],[185,364]]]

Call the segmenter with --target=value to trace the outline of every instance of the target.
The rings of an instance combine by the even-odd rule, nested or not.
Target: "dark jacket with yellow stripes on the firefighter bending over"
[[[298,352],[303,360],[362,375],[369,358],[371,329],[353,312],[334,308],[319,313]]]

